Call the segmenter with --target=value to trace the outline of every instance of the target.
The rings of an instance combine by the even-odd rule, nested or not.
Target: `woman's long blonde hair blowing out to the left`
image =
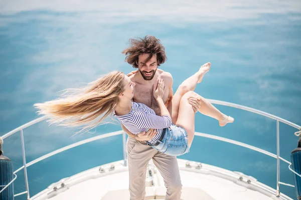
[[[34,106],[39,109],[39,114],[50,117],[52,123],[65,126],[85,124],[79,132],[90,130],[101,124],[119,103],[118,95],[124,91],[123,79],[123,72],[113,71],[84,88],[68,89],[61,98]]]

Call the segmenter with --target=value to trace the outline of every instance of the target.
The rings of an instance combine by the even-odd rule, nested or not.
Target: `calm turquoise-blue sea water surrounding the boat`
[[[174,77],[174,91],[203,63],[212,67],[196,92],[206,98],[260,109],[301,124],[301,12],[298,1],[212,1],[97,4],[76,1],[0,3],[0,135],[38,116],[33,104],[58,91],[82,86],[113,69],[129,72],[121,51],[129,38],[155,35],[168,60],[160,68]],[[217,106],[235,123],[219,127],[200,113],[196,130],[276,153],[275,121]],[[72,137],[71,128],[42,122],[24,130],[26,159],[88,137],[119,130],[108,124]],[[280,123],[280,156],[290,161],[296,129]],[[22,166],[20,134],[5,140],[5,154]],[[276,159],[243,147],[196,137],[180,156],[244,172],[276,187]],[[55,155],[28,168],[33,196],[52,182],[90,167],[122,159],[122,138],[114,136]],[[280,161],[280,181],[293,184]],[[16,193],[25,190],[18,172]],[[280,186],[295,199],[294,189]],[[18,196],[16,199],[25,199]]]

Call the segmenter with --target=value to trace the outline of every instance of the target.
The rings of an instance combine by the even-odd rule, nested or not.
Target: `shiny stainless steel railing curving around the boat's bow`
[[[253,113],[257,113],[257,114],[260,114],[260,115],[263,115],[263,116],[266,116],[268,118],[271,118],[271,119],[274,119],[276,120],[276,140],[277,140],[277,154],[273,154],[271,152],[268,152],[268,151],[265,151],[261,148],[257,148],[255,146],[251,146],[249,144],[245,144],[245,143],[242,143],[242,142],[239,142],[239,141],[236,141],[236,140],[232,140],[232,139],[228,139],[228,138],[224,138],[224,137],[219,137],[219,136],[216,136],[216,135],[211,135],[211,134],[205,134],[205,133],[200,133],[200,132],[196,132],[195,134],[198,135],[198,136],[203,136],[203,137],[209,137],[209,138],[212,138],[212,139],[218,139],[218,140],[221,140],[221,141],[225,141],[225,142],[229,142],[229,143],[233,143],[233,144],[236,144],[236,145],[240,145],[240,146],[243,146],[243,147],[246,147],[246,148],[249,148],[249,149],[252,149],[252,150],[256,150],[258,152],[261,152],[261,153],[264,153],[266,155],[269,155],[269,156],[272,156],[274,158],[277,159],[277,182],[276,182],[276,196],[280,196],[280,184],[283,184],[283,185],[288,185],[288,186],[292,186],[291,184],[288,184],[288,183],[284,183],[284,182],[280,182],[280,159],[285,161],[286,163],[288,164],[291,164],[289,161],[285,160],[284,158],[280,157],[280,149],[279,149],[279,121],[280,122],[283,122],[285,124],[288,124],[292,127],[295,127],[297,129],[301,129],[301,126],[295,124],[295,123],[292,123],[288,120],[285,120],[281,117],[278,117],[278,116],[275,116],[273,114],[270,114],[270,113],[267,113],[267,112],[264,112],[264,111],[261,111],[261,110],[258,110],[258,109],[254,109],[254,108],[251,108],[251,107],[247,107],[247,106],[243,106],[243,105],[239,105],[239,104],[235,104],[235,103],[231,103],[231,102],[226,102],[226,101],[220,101],[220,100],[214,100],[214,99],[208,99],[211,103],[213,104],[219,104],[219,105],[225,105],[225,106],[230,106],[230,107],[235,107],[235,108],[238,108],[238,109],[242,109],[242,110],[246,110],[246,111],[249,111],[249,112],[253,112]],[[122,131],[117,131],[117,132],[111,132],[111,133],[107,133],[107,134],[102,134],[102,135],[98,135],[98,136],[95,136],[95,137],[91,137],[89,139],[84,139],[82,141],[78,141],[78,142],[75,142],[73,144],[70,144],[68,146],[65,146],[63,148],[60,148],[60,149],[57,149],[55,151],[52,151],[46,155],[43,155],[29,163],[26,163],[26,153],[25,153],[25,147],[24,147],[24,135],[23,135],[23,129],[33,125],[33,124],[36,124],[40,121],[43,121],[45,120],[46,117],[45,116],[42,116],[42,117],[39,117],[35,120],[32,120],[28,123],[25,123],[23,125],[21,125],[20,127],[18,128],[15,128],[14,130],[4,134],[2,136],[3,139],[17,133],[20,131],[21,133],[21,144],[22,144],[22,156],[23,156],[23,166],[20,167],[19,169],[17,169],[14,174],[16,175],[16,173],[22,169],[24,169],[24,176],[25,176],[25,185],[26,185],[26,191],[24,192],[21,192],[21,193],[18,193],[18,194],[15,194],[15,196],[18,196],[18,195],[21,195],[21,194],[27,194],[27,199],[30,199],[30,193],[29,193],[29,185],[28,185],[28,178],[27,178],[27,167],[32,165],[32,164],[35,164],[47,157],[50,157],[52,155],[55,155],[57,153],[60,153],[62,151],[65,151],[67,149],[70,149],[70,148],[73,148],[75,146],[78,146],[78,145],[81,145],[81,144],[84,144],[84,143],[88,143],[90,141],[94,141],[94,140],[97,140],[97,139],[101,139],[101,138],[104,138],[104,137],[108,137],[108,136],[113,136],[113,135],[117,135],[117,134],[122,134],[122,142],[123,142],[123,159],[124,159],[124,165],[126,165],[127,163],[127,160],[126,160],[126,152],[125,152],[125,140],[126,140],[126,134]],[[17,175],[16,177],[13,179],[13,181],[17,178]],[[13,181],[11,181],[9,184],[11,184]],[[8,185],[9,185],[8,184]],[[6,186],[8,186],[6,185]],[[4,190],[4,189],[2,189]],[[2,191],[1,190],[1,191]],[[0,191],[0,192],[1,192]]]

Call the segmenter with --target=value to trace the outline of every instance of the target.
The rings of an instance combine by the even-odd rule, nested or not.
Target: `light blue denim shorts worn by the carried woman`
[[[156,150],[167,155],[178,156],[189,152],[188,136],[184,128],[176,125],[165,128],[165,135],[160,144],[153,146]]]

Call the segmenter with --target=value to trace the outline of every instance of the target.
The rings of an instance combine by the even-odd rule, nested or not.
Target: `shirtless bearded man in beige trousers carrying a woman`
[[[169,72],[158,69],[160,64],[167,59],[165,48],[160,40],[154,36],[130,39],[130,46],[122,51],[126,55],[125,61],[138,70],[129,75],[135,83],[133,101],[144,103],[160,115],[160,108],[153,96],[153,89],[157,86],[158,78],[165,82],[165,93],[163,100],[170,111],[173,122],[177,118],[173,113],[171,99],[173,97],[173,77]],[[197,111],[200,103],[192,104]],[[166,199],[180,200],[182,183],[178,167],[177,157],[169,156],[152,148],[146,143],[154,136],[160,137],[161,133],[150,129],[138,135],[129,132],[123,125],[122,129],[129,135],[127,139],[126,152],[129,170],[129,192],[130,200],[144,200],[145,176],[150,159],[153,159],[164,178],[167,188]]]

